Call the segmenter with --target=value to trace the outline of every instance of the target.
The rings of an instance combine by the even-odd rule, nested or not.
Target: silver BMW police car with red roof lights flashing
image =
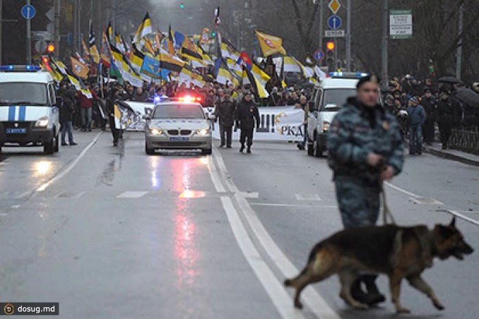
[[[211,154],[211,117],[200,103],[157,103],[145,118],[146,154],[153,155],[157,149],[199,149],[203,155]]]

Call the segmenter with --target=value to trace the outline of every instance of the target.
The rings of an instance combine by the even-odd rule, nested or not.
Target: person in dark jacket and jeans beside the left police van
[[[58,95],[62,98],[60,107],[60,125],[62,127],[62,146],[66,144],[66,133],[68,133],[68,143],[70,146],[77,145],[73,140],[73,114],[75,113],[75,90],[68,81],[62,81]]]

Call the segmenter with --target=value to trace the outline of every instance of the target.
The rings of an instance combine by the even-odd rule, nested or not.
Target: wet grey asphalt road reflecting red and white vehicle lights
[[[141,133],[118,148],[109,133],[76,138],[53,156],[0,155],[1,302],[59,302],[61,318],[396,316],[389,301],[348,308],[337,277],[305,290],[302,311],[282,287],[315,242],[341,229],[325,158],[268,142],[250,155],[146,156]],[[445,211],[479,222],[479,170],[408,156],[387,197],[402,225],[448,223]],[[479,226],[457,225],[477,250]],[[474,253],[426,270],[444,311],[404,283],[406,318],[478,318],[478,262]],[[379,285],[389,299],[385,277]]]

